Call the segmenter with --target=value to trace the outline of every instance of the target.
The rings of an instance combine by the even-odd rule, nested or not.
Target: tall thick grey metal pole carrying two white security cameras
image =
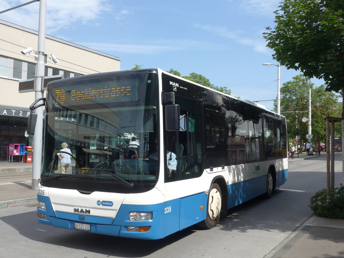
[[[35,100],[43,97],[42,81],[44,79],[45,66],[45,21],[46,21],[46,0],[40,0],[40,14],[38,25],[38,60],[36,65],[35,76]],[[37,104],[41,104],[39,102]],[[35,135],[33,136],[33,153],[32,153],[32,183],[31,188],[37,189],[41,177],[42,168],[42,151],[43,151],[43,107],[35,109],[37,113],[37,122]]]

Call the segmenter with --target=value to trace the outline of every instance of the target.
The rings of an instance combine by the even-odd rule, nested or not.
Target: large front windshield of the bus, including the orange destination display
[[[41,184],[86,192],[154,187],[157,80],[113,72],[49,84]]]

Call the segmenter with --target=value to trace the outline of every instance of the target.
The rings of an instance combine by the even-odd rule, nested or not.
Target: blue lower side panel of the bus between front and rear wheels
[[[228,185],[228,209],[266,192],[266,175]]]

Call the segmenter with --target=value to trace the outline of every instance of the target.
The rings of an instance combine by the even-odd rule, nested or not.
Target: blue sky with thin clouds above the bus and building
[[[29,0],[0,0],[5,10]],[[261,33],[274,26],[279,0],[47,0],[46,34],[121,58],[121,70],[195,72],[232,96],[277,95],[277,67]],[[39,2],[0,14],[38,30]],[[1,34],[0,34],[1,35]],[[56,56],[58,58],[58,56]],[[281,86],[300,74],[281,67]],[[311,79],[315,86],[323,80]],[[267,109],[273,101],[261,101]]]

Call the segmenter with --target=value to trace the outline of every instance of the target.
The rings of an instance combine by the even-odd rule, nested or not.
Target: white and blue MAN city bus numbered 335
[[[45,106],[42,224],[159,239],[213,228],[287,180],[285,117],[160,69],[56,80]]]

